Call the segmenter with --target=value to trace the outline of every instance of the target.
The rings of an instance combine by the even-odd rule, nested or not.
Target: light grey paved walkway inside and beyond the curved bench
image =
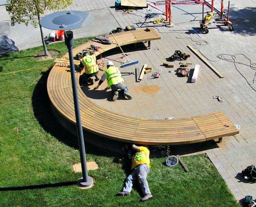
[[[215,6],[220,7],[218,1]],[[227,4],[227,3],[226,3]],[[238,201],[246,195],[256,198],[256,184],[244,180],[241,170],[246,166],[256,163],[256,83],[255,65],[248,67],[236,63],[227,54],[236,55],[236,62],[250,64],[255,61],[256,48],[256,1],[232,0],[230,4],[231,21],[234,24],[234,31],[229,31],[225,26],[209,26],[209,33],[205,34],[199,28],[201,19],[201,6],[199,5],[174,5],[173,22],[175,27],[153,25],[151,19],[145,20],[146,13],[159,12],[151,7],[151,11],[140,9],[133,14],[123,14],[122,10],[116,10],[112,0],[74,0],[73,5],[68,10],[88,11],[93,14],[95,21],[87,27],[74,30],[75,37],[88,37],[99,34],[108,34],[112,29],[127,25],[136,27],[154,26],[161,34],[161,40],[152,41],[151,50],[147,50],[143,45],[138,45],[134,51],[129,47],[124,47],[125,53],[130,54],[132,60],[139,60],[140,63],[122,71],[134,71],[140,69],[143,64],[152,66],[156,72],[162,68],[160,78],[151,79],[151,74],[144,76],[143,81],[136,83],[133,76],[125,76],[129,92],[134,99],[108,101],[110,96],[95,96],[91,99],[108,110],[119,111],[130,116],[145,117],[150,119],[164,119],[169,116],[184,118],[196,116],[204,113],[224,111],[234,124],[240,125],[240,133],[223,139],[223,142],[215,142],[177,146],[175,151],[180,155],[193,153],[207,153],[218,172],[226,181],[228,187]],[[227,5],[225,5],[227,8]],[[1,28],[9,38],[16,42],[19,49],[26,49],[41,45],[39,29],[26,27],[23,24],[11,27],[9,16],[5,8],[0,6]],[[161,16],[160,16],[161,17]],[[3,30],[1,29],[2,33]],[[45,30],[45,35],[49,31]],[[170,57],[175,50],[189,52],[187,45],[193,45],[209,59],[211,63],[223,75],[218,78],[204,63],[192,55],[188,62],[201,65],[198,81],[191,83],[187,78],[177,77],[174,69],[178,62],[174,62],[173,72],[169,68],[161,66],[163,61]],[[104,60],[114,60],[116,66],[120,66],[123,59],[118,59],[121,52],[116,49],[106,54]],[[227,60],[220,60],[217,55],[225,54]],[[241,55],[243,54],[243,55]],[[245,56],[249,59],[247,59]],[[84,90],[90,93],[91,88]],[[99,91],[103,88],[99,88]],[[224,102],[212,99],[212,96],[220,95]],[[98,97],[98,98],[97,98]],[[188,166],[189,167],[189,166]]]

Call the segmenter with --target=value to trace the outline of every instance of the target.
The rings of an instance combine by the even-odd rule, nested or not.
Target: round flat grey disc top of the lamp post
[[[43,17],[42,27],[52,30],[71,30],[89,25],[93,16],[84,11],[59,11]]]

